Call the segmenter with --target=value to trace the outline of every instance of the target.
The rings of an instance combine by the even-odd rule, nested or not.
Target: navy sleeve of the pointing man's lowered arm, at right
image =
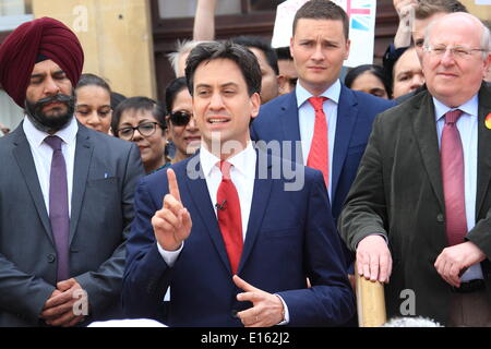
[[[277,292],[288,305],[291,326],[339,326],[355,314],[340,239],[320,171],[309,193],[304,265],[312,287]]]

